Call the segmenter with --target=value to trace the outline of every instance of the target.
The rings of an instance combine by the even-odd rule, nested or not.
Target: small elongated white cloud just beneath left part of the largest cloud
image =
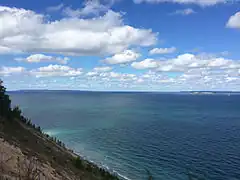
[[[16,61],[24,61],[28,63],[40,63],[40,62],[58,62],[61,64],[67,64],[70,60],[68,57],[54,57],[54,56],[47,56],[44,54],[33,54],[26,58],[15,58]]]

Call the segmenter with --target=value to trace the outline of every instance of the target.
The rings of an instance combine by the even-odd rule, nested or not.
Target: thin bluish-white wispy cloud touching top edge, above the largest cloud
[[[69,17],[84,17],[88,15],[99,15],[101,12],[108,11],[108,9],[109,7],[101,4],[99,0],[88,0],[85,1],[83,8],[74,10],[67,7],[63,10],[63,13]]]

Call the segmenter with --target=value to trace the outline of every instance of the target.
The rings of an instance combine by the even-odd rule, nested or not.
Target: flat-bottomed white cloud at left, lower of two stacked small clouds
[[[82,68],[75,69],[69,66],[51,64],[49,66],[44,66],[38,69],[31,70],[29,73],[36,77],[51,77],[51,76],[79,76],[83,72]]]

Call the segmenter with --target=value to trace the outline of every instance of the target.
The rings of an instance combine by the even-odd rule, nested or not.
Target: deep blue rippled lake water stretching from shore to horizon
[[[240,95],[12,92],[26,116],[133,180],[240,179]]]

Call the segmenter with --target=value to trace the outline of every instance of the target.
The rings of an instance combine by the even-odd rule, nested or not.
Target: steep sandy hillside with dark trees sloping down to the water
[[[0,81],[0,179],[117,180],[102,168],[81,159],[44,133],[11,100]]]

